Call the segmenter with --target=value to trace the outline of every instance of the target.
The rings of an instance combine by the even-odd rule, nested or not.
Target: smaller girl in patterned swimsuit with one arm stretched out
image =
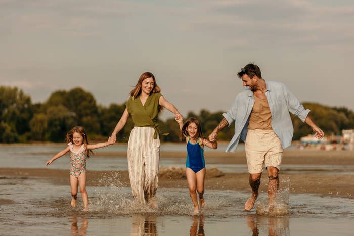
[[[83,211],[89,210],[89,196],[86,191],[86,161],[89,158],[89,152],[92,153],[92,149],[107,147],[113,144],[111,139],[108,139],[105,143],[98,143],[90,145],[87,140],[87,135],[84,128],[76,126],[72,128],[66,134],[66,141],[68,147],[63,151],[57,153],[52,159],[47,162],[47,166],[54,160],[64,156],[70,151],[70,186],[71,186],[71,206],[76,206],[77,197],[77,184],[80,186],[80,193],[82,196],[82,202],[84,205]]]

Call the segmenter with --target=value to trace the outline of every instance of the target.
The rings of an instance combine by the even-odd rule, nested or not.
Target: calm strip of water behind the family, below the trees
[[[224,145],[225,146],[225,145]],[[50,169],[69,169],[68,156],[57,159],[51,166],[46,167],[46,162],[61,151],[65,145],[2,145],[0,146],[0,167],[7,168],[50,168]],[[219,147],[219,150],[224,150],[225,147]],[[240,145],[240,150],[244,146]],[[102,153],[107,152],[126,152],[126,145],[114,145],[109,149],[97,149],[95,155],[87,162],[89,170],[127,170],[126,156],[102,156]],[[185,151],[186,146],[183,144],[163,144],[161,151]],[[207,152],[215,151],[208,149]],[[100,155],[101,154],[101,155]],[[176,158],[165,158],[163,155],[160,158],[160,166],[176,166],[185,167],[185,160]],[[207,167],[216,167],[224,173],[246,173],[246,164],[208,164]],[[320,173],[332,174],[354,174],[353,165],[282,165],[282,173]]]

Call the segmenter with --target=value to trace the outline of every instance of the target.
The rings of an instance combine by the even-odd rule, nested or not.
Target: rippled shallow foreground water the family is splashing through
[[[283,185],[285,185],[283,183]],[[119,179],[105,187],[87,187],[90,212],[83,213],[81,196],[70,208],[70,186],[38,178],[0,178],[1,235],[352,235],[354,202],[291,194],[282,190],[278,207],[289,214],[260,216],[257,207],[243,211],[246,192],[206,190],[206,207],[191,214],[188,190],[159,188],[158,209],[136,206],[130,188]],[[258,233],[258,234],[257,234]]]

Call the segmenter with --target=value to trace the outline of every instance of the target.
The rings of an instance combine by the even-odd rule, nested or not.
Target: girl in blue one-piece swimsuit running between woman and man
[[[194,204],[194,214],[199,214],[199,205],[197,193],[199,194],[200,207],[204,207],[204,179],[205,179],[205,160],[204,146],[211,149],[217,148],[217,142],[210,142],[203,137],[202,127],[196,118],[189,118],[183,123],[183,117],[175,119],[180,125],[181,141],[183,136],[187,143],[187,161],[186,161],[186,176],[189,188],[189,195]]]

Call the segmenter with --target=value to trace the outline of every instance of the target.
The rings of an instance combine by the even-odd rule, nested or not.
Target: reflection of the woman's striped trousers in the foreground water
[[[156,236],[156,217],[135,215],[131,218],[131,235],[132,236]]]

